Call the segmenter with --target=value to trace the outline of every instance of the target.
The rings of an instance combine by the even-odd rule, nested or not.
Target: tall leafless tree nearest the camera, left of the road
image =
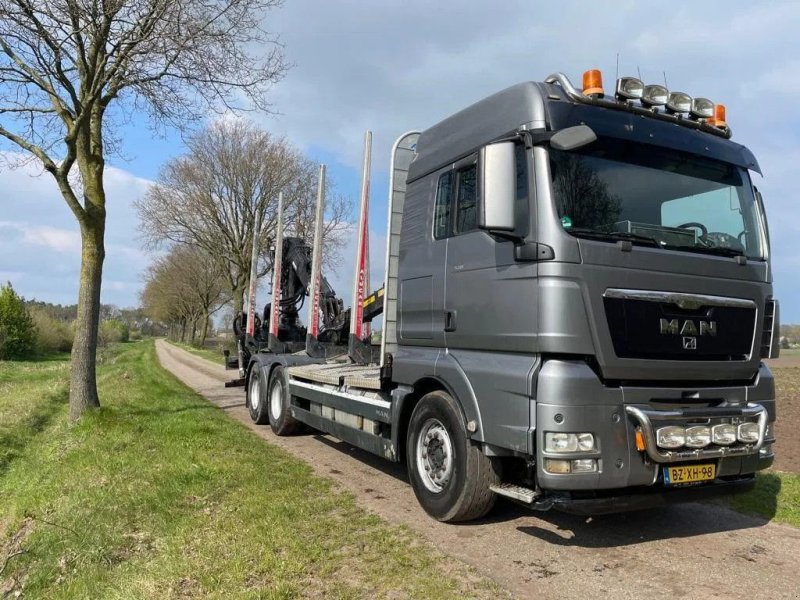
[[[287,65],[261,21],[280,3],[0,0],[0,135],[55,178],[81,232],[72,420],[100,404],[103,172],[114,116],[145,109],[156,123],[185,126],[209,108],[268,109],[266,93]]]

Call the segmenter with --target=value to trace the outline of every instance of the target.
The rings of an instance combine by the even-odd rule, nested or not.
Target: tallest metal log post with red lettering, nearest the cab
[[[364,297],[369,285],[369,174],[372,162],[372,132],[364,134],[364,165],[361,173],[361,206],[358,217],[353,308],[350,315],[350,337],[347,354],[361,365],[372,361],[369,326],[364,323]]]

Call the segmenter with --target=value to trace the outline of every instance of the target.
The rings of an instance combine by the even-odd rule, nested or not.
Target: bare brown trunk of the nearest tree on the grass
[[[105,259],[105,215],[92,215],[81,224],[81,275],[78,317],[72,344],[69,418],[77,421],[88,409],[100,406],[97,395],[97,331],[100,321],[100,284]]]

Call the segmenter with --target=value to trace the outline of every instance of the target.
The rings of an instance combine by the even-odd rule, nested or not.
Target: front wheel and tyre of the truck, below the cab
[[[439,521],[479,519],[494,506],[497,465],[472,444],[461,407],[445,392],[430,392],[414,407],[406,463],[417,500]]]

